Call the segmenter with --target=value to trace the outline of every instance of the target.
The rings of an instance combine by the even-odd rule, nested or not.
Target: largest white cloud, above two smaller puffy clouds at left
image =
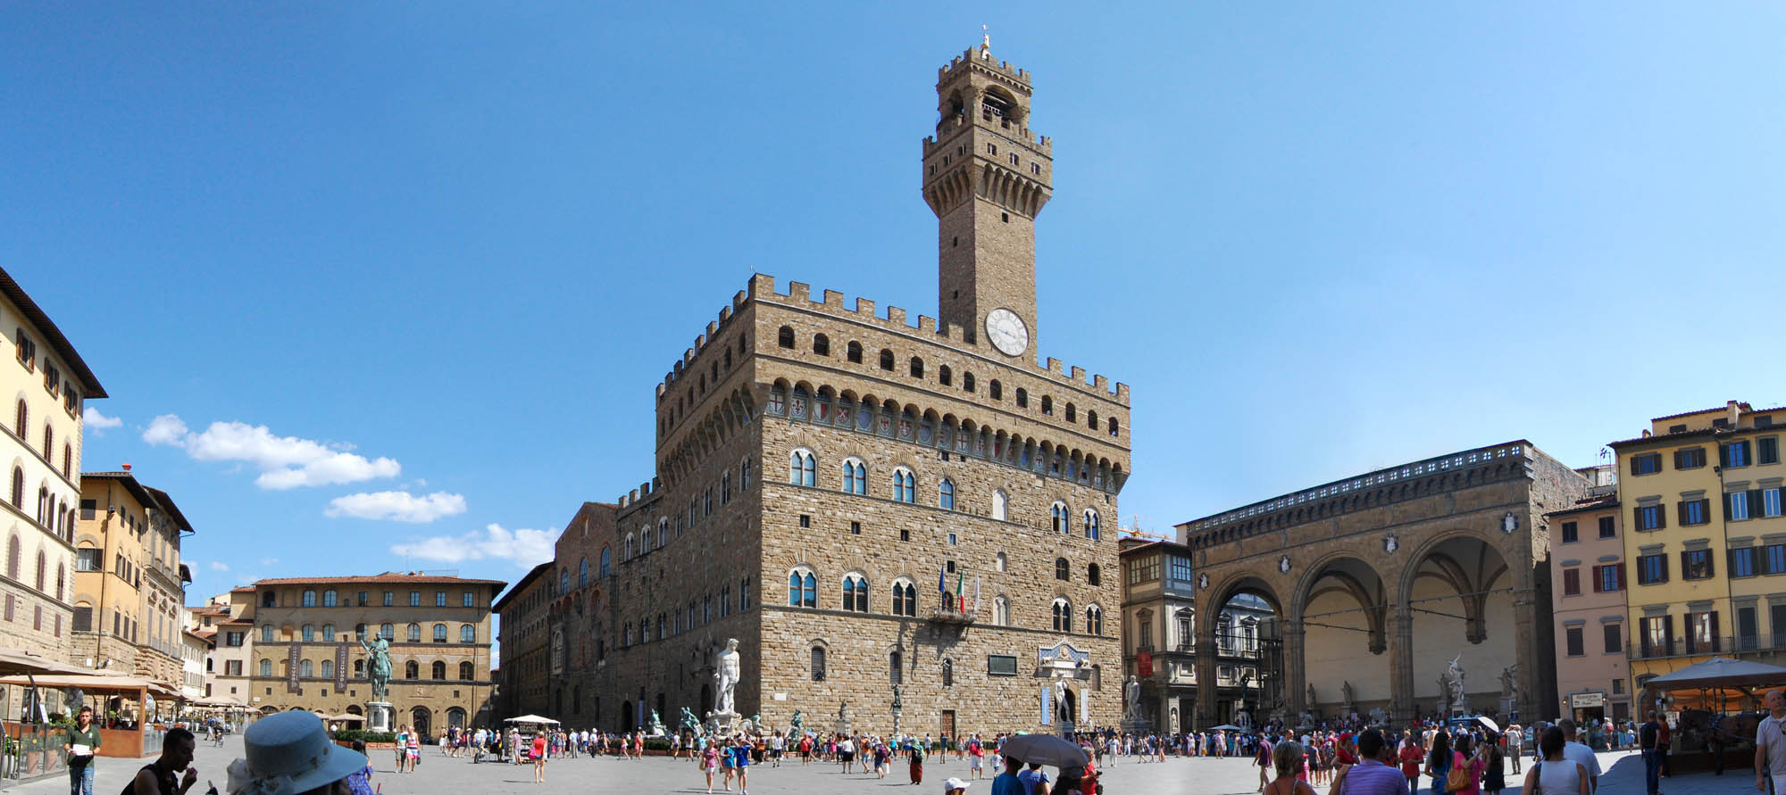
[[[179,415],[163,414],[148,422],[143,440],[182,447],[200,462],[252,463],[261,471],[254,483],[273,490],[359,483],[402,472],[393,458],[366,458],[348,453],[352,446],[345,444],[275,437],[264,424],[211,422],[202,433],[193,433]]]

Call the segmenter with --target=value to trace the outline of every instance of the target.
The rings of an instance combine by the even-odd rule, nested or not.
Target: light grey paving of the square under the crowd
[[[205,791],[205,779],[223,790],[223,768],[241,754],[239,736],[229,738],[221,749],[200,745],[195,765],[198,766],[198,786],[191,795]],[[375,754],[371,759],[379,775],[380,795],[438,795],[438,793],[536,793],[536,791],[575,791],[575,793],[705,793],[695,763],[688,759],[647,758],[645,761],[620,761],[618,758],[577,758],[559,759],[547,765],[547,786],[536,786],[532,768],[516,765],[472,765],[466,759],[439,756],[434,749],[425,749],[421,766],[416,774],[396,775],[391,772],[389,752]],[[146,765],[127,763],[123,759],[100,759],[95,793],[118,791],[125,784],[130,770]],[[1600,754],[1600,765],[1609,770],[1600,779],[1600,791],[1641,793],[1643,759],[1636,754],[1609,752]],[[941,790],[943,779],[950,775],[966,777],[964,761],[938,761],[925,765],[923,786],[911,786],[906,781],[906,766],[895,765],[886,781],[873,775],[839,774],[838,765],[820,765],[802,768],[798,763],[780,768],[752,766],[750,791],[754,795],[779,793],[898,793]],[[1177,759],[1164,763],[1139,763],[1123,759],[1106,768],[1104,783],[1111,793],[1197,793],[1197,795],[1247,795],[1257,791],[1259,774],[1248,759]],[[1425,779],[1422,779],[1425,783]],[[1732,770],[1723,777],[1709,774],[1677,775],[1663,781],[1668,795],[1711,795],[1731,791],[1754,791],[1752,774]],[[1509,777],[1509,784],[1513,784]],[[1327,788],[1320,788],[1325,793]],[[21,795],[61,795],[68,791],[68,779],[54,777],[23,784],[7,793]],[[714,777],[713,791],[722,791]],[[736,788],[734,788],[736,791]],[[989,779],[977,781],[968,793],[991,791]],[[1427,790],[1422,788],[1422,793]],[[1516,790],[1507,790],[1515,793]]]

